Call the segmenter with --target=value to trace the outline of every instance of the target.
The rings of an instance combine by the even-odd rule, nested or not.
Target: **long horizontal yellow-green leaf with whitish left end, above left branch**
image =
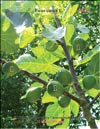
[[[45,58],[33,58],[30,54],[21,55],[16,64],[20,69],[27,70],[31,73],[49,72],[55,74],[59,70],[59,66],[47,62]]]

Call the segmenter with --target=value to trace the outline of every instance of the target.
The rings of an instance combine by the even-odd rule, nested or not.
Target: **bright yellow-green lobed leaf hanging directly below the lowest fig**
[[[46,109],[46,124],[48,126],[56,126],[56,128],[67,128],[70,119],[70,106],[61,108],[57,102],[51,104]],[[64,121],[62,121],[64,119]]]

